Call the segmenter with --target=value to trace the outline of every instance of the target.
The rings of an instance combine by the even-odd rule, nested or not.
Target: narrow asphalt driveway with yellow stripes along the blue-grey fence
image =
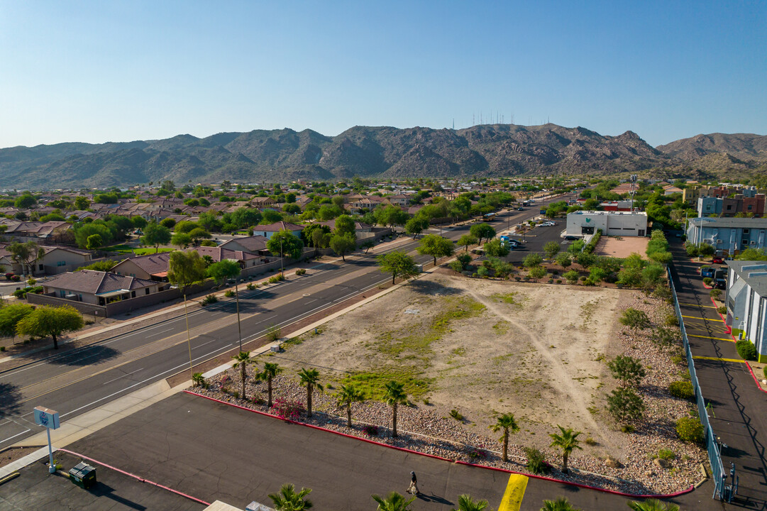
[[[724,470],[732,463],[739,476],[739,495],[733,504],[749,509],[767,509],[767,394],[756,386],[748,366],[742,362],[732,336],[703,288],[697,270],[681,242],[671,242],[680,302],[690,351],[703,398],[710,406],[709,421],[715,434],[726,443],[722,450]]]

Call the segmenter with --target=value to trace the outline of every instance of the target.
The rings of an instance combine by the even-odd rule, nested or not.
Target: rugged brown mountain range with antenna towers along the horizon
[[[604,136],[556,124],[463,130],[352,127],[254,130],[198,138],[58,143],[0,149],[0,188],[104,188],[176,183],[661,173],[731,176],[762,170],[767,136],[709,134],[651,147],[632,131]]]

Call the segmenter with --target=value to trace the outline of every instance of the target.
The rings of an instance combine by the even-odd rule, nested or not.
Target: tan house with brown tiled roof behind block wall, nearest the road
[[[160,282],[109,272],[67,272],[43,283],[45,295],[92,305],[129,300],[160,291]]]

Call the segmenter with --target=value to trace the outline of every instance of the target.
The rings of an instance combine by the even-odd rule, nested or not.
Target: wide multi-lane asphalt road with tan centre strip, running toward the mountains
[[[497,216],[492,224],[501,230],[537,214],[538,207],[511,211]],[[458,239],[468,229],[444,230],[443,236]],[[543,241],[558,236],[561,226],[536,228],[535,232],[542,234],[538,241]],[[345,263],[318,263],[303,277],[241,292],[243,341],[264,335],[272,325],[289,325],[386,282],[390,277],[378,270],[375,256],[394,249],[410,252],[417,242],[393,245],[380,246],[368,255],[357,253]],[[530,246],[528,243],[528,250]],[[514,254],[510,260],[515,260]],[[425,263],[431,258],[416,259]],[[190,312],[189,330],[194,364],[232,350],[239,342],[235,302],[227,300]],[[188,367],[183,315],[19,368],[2,371],[0,365],[0,449],[38,432],[32,415],[35,406],[58,410],[64,421]]]

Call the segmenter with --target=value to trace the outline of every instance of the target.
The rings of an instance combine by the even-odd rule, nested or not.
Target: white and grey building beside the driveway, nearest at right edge
[[[767,263],[727,262],[725,324],[737,338],[751,341],[760,362],[767,362]]]

